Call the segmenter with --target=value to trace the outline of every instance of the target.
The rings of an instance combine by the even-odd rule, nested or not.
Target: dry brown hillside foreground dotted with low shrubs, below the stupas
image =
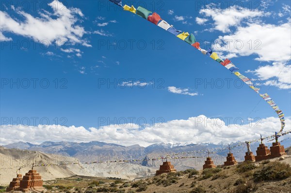
[[[47,193],[291,193],[291,156],[138,181],[74,176],[44,182]],[[4,190],[4,189],[2,189]]]

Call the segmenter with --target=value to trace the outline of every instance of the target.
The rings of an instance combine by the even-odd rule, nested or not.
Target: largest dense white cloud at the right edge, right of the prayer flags
[[[256,60],[259,61],[286,62],[291,56],[290,34],[290,23],[278,26],[252,23],[245,27],[238,27],[230,35],[219,36],[214,48],[224,54],[231,54],[231,57],[256,54],[259,56]]]

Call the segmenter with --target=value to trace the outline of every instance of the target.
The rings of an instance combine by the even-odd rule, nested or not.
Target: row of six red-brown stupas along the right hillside
[[[275,142],[272,144],[272,147],[270,149],[263,144],[263,139],[261,137],[261,144],[259,144],[259,147],[257,148],[256,152],[257,155],[255,156],[250,148],[250,142],[245,142],[247,146],[247,152],[245,152],[244,160],[246,162],[259,162],[262,160],[267,160],[271,158],[281,157],[282,155],[286,155],[284,146],[281,146],[281,144],[278,142],[278,137],[275,135]],[[230,165],[236,165],[238,162],[235,160],[235,157],[230,152],[227,154],[226,162],[224,163],[225,166]],[[213,161],[211,160],[208,152],[208,157],[206,158],[205,164],[203,165],[203,169],[207,168],[216,168],[216,165],[214,165]],[[171,164],[171,162],[163,162],[162,165],[160,165],[160,170],[157,170],[156,176],[163,174],[163,173],[170,173],[170,172],[177,172],[176,169],[174,169],[174,165]]]

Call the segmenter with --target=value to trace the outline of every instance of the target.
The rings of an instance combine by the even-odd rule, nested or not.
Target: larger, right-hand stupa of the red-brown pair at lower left
[[[20,181],[20,188],[22,192],[28,192],[30,190],[36,190],[36,191],[43,191],[43,180],[41,179],[41,176],[39,173],[36,172],[36,170],[29,170],[28,173],[25,174],[25,176]]]

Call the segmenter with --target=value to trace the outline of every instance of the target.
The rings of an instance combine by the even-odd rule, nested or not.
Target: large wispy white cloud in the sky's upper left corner
[[[54,0],[48,4],[53,12],[43,11],[40,17],[34,17],[24,11],[15,11],[24,18],[23,21],[14,19],[8,13],[0,11],[1,33],[9,32],[29,37],[42,44],[63,45],[70,43],[83,44],[85,30],[76,23],[83,17],[80,9],[66,8],[60,1]],[[66,11],[63,11],[63,10]],[[17,9],[16,9],[17,10]],[[4,36],[5,37],[5,36]]]

